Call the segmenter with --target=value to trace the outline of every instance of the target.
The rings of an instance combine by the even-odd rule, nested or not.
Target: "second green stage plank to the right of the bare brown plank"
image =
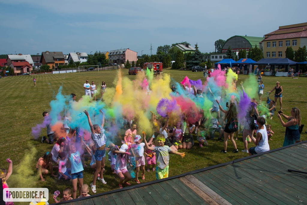
[[[226,167],[226,166],[225,166]],[[270,200],[270,195],[265,193],[264,191],[262,191],[260,188],[258,187],[254,187],[254,186],[249,186],[247,183],[244,183],[244,181],[242,180],[242,178],[244,177],[243,175],[239,174],[238,172],[236,172],[235,170],[231,170],[231,171],[226,171],[225,167],[220,168],[220,171],[224,173],[224,175],[227,175],[228,179],[232,179],[232,183],[236,182],[238,184],[238,186],[240,186],[242,188],[241,192],[248,192],[252,197],[256,196],[258,199],[258,202],[261,204],[267,204],[270,203],[267,199]],[[263,197],[265,196],[265,197]],[[274,201],[272,201],[274,203]]]

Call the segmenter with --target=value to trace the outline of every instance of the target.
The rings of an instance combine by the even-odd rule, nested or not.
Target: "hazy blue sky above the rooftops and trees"
[[[183,41],[209,53],[218,39],[263,37],[307,22],[306,6],[306,0],[0,0],[0,54],[129,48],[150,55],[150,45],[155,54],[160,45]]]

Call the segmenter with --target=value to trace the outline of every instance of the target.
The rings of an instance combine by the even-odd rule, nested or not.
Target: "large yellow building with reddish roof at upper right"
[[[307,46],[307,22],[279,26],[278,30],[265,34],[260,43],[264,58],[285,58],[287,47],[292,46],[296,51],[304,45]]]

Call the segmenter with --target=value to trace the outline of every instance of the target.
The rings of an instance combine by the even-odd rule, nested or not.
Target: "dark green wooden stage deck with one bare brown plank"
[[[80,204],[307,204],[307,141],[69,201]]]

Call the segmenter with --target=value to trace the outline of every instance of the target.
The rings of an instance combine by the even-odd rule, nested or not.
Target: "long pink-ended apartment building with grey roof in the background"
[[[109,59],[110,62],[122,64],[125,63],[127,60],[129,62],[136,62],[138,60],[138,53],[127,49],[119,49],[119,50],[111,50],[109,52]]]

